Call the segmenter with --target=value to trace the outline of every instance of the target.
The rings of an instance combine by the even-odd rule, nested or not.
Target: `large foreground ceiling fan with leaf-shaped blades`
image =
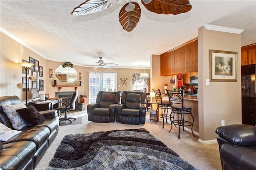
[[[118,0],[86,0],[71,13],[74,16],[93,14],[105,10]],[[191,10],[189,0],[141,0],[142,5],[156,14],[180,14]],[[119,12],[119,22],[124,30],[132,31],[140,20],[140,6],[129,0]]]

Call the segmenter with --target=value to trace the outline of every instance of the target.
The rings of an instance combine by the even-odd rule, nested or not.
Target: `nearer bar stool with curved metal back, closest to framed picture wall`
[[[186,103],[184,103],[183,100],[183,90],[180,91],[171,91],[166,89],[168,97],[169,97],[169,101],[172,102],[172,124],[176,127],[176,125],[179,127],[179,134],[178,134],[178,138],[180,138],[180,127],[182,126],[183,131],[184,131],[184,127],[188,127],[191,126],[191,131],[192,134],[194,135],[193,132],[193,125],[194,125],[194,116],[192,114],[192,107]],[[174,115],[177,115],[177,117],[174,118]],[[190,121],[186,121],[185,120],[185,115],[190,115],[192,117],[192,122]],[[171,125],[171,129],[172,130],[172,125]],[[169,131],[169,132],[170,132]],[[196,137],[194,135],[194,137]]]

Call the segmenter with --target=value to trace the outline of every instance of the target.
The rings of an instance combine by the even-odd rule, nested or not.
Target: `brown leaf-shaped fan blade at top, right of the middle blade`
[[[148,4],[145,4],[144,0],[141,0],[141,2],[145,8],[156,14],[177,15],[188,12],[192,8],[189,4],[189,0],[152,0]]]

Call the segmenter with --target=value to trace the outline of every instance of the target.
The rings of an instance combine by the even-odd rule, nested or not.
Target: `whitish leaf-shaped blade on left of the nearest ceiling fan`
[[[96,13],[107,9],[112,6],[108,0],[86,0],[84,3],[80,4],[78,7],[74,8],[72,15],[86,15]]]

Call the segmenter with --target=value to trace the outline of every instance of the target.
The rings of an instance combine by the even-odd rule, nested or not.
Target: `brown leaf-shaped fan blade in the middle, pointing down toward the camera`
[[[136,2],[131,2],[135,5],[135,8],[131,11],[126,11],[125,7],[129,5],[129,3],[125,4],[119,12],[119,22],[124,30],[127,32],[132,31],[137,23],[140,21],[140,6]]]

